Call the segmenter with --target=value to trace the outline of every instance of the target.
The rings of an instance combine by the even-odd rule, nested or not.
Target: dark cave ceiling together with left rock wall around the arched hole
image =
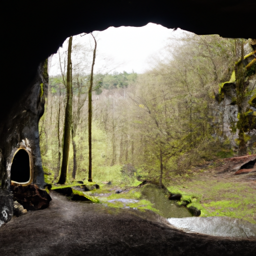
[[[154,22],[197,34],[256,38],[255,0],[4,1],[1,3],[0,219],[12,214],[10,163],[19,147],[30,150],[33,183],[43,184],[38,120],[47,86],[42,61],[70,35],[109,26]],[[42,84],[42,85],[41,85]],[[3,200],[5,198],[6,200]],[[5,205],[5,206],[4,206]],[[8,205],[9,215],[5,217]]]

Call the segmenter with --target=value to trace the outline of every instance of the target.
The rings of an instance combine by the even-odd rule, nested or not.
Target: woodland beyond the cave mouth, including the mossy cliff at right
[[[56,183],[60,175],[70,93],[64,182],[88,177],[89,91],[94,182],[151,180],[167,186],[174,177],[192,177],[191,169],[205,162],[256,153],[250,40],[186,32],[169,39],[169,54],[141,74],[93,73],[96,40],[91,45],[58,52],[61,74],[49,77],[39,121],[46,182]]]

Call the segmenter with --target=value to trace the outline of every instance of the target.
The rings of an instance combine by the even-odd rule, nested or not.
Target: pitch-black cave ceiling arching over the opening
[[[154,22],[197,34],[256,38],[255,9],[255,0],[4,1],[0,121],[29,90],[39,62],[70,35]]]

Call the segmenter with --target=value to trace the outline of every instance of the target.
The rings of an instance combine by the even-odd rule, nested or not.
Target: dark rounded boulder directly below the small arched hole
[[[44,209],[49,206],[51,200],[50,195],[36,184],[14,186],[13,198],[28,210]]]

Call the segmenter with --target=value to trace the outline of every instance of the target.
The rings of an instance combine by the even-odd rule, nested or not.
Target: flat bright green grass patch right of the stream
[[[242,218],[256,224],[256,195],[246,182],[208,180],[184,180],[183,185],[168,186],[171,193],[182,195],[187,207],[194,206],[205,216],[229,216]]]

